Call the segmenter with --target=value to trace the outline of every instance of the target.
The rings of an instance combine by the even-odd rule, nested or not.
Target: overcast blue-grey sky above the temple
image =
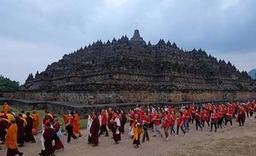
[[[256,68],[255,0],[1,0],[0,75],[22,83],[65,53],[135,29]]]

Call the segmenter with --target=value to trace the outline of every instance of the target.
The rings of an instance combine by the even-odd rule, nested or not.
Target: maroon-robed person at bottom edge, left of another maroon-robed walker
[[[42,150],[40,155],[42,156],[54,156],[55,155],[55,147],[52,145],[52,141],[54,140],[55,131],[50,127],[50,123],[45,124],[45,131],[43,137],[45,139],[45,150]]]

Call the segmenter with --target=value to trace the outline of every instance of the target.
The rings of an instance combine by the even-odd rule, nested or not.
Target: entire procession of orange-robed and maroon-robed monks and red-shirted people
[[[206,103],[200,106],[195,104],[182,105],[179,108],[173,106],[164,106],[154,108],[154,106],[135,107],[129,112],[123,109],[113,110],[102,109],[102,112],[92,112],[88,116],[88,144],[93,147],[99,145],[101,135],[109,136],[117,145],[121,141],[121,134],[125,134],[126,124],[129,128],[127,134],[133,140],[135,149],[142,143],[150,140],[149,131],[153,131],[151,137],[165,137],[169,140],[169,135],[187,135],[188,131],[195,129],[202,131],[204,128],[209,131],[217,131],[229,124],[233,126],[234,120],[239,126],[244,126],[246,116],[249,120],[253,119],[256,111],[255,101],[247,103],[235,102],[216,105]],[[82,134],[79,131],[79,116],[77,111],[69,112],[63,115],[65,124],[65,133],[67,141],[64,145],[69,145],[71,138],[76,142]],[[55,151],[64,149],[64,145],[59,137],[62,135],[59,118],[55,113],[45,111],[45,116],[40,122],[39,114],[33,112],[21,111],[19,114],[12,112],[7,103],[4,103],[0,113],[0,140],[1,144],[7,146],[7,156],[23,155],[18,149],[25,144],[36,143],[34,135],[38,128],[42,126],[40,136],[41,149],[40,155],[53,156]],[[193,128],[194,126],[194,128]],[[162,131],[163,129],[163,131]],[[109,130],[109,131],[108,131]]]

